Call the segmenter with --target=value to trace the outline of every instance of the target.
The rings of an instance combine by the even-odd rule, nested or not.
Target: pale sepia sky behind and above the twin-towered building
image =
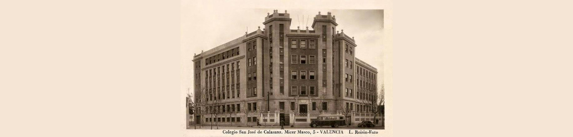
[[[193,54],[207,51],[238,37],[245,31],[251,33],[261,26],[264,28],[266,13],[274,9],[221,9],[213,5],[188,5],[182,2],[181,9],[181,50],[182,50],[182,89],[193,93]],[[185,8],[183,8],[185,7]],[[383,10],[328,10],[328,9],[277,9],[278,13],[291,15],[291,29],[313,30],[312,20],[320,11],[328,11],[336,16],[336,30],[354,37],[356,58],[378,68],[378,88],[383,80]],[[298,16],[298,18],[297,18]],[[307,19],[308,17],[308,19]],[[304,18],[304,22],[303,22]],[[307,23],[308,21],[308,23]],[[300,22],[300,23],[299,23]]]

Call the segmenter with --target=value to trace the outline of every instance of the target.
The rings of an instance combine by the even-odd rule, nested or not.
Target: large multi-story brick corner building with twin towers
[[[378,71],[355,57],[354,37],[336,31],[335,15],[319,12],[313,30],[291,30],[289,14],[274,10],[262,24],[194,55],[197,123],[305,124],[333,113],[374,120],[365,102],[376,99]]]

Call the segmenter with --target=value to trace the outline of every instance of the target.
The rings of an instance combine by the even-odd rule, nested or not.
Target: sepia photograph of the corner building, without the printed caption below
[[[182,18],[187,129],[384,129],[384,10],[208,11]]]

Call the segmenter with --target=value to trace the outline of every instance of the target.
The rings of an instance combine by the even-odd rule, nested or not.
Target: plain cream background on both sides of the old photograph
[[[572,136],[570,5],[393,1],[388,134]],[[0,136],[186,134],[179,6],[0,2]]]

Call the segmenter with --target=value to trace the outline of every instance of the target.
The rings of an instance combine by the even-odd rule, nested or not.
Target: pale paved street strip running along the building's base
[[[370,127],[370,128],[368,128],[368,127],[356,127],[356,126],[349,126],[349,127],[340,126],[340,127],[337,127],[337,128],[332,128],[332,127],[330,127],[330,126],[315,127],[315,128],[312,128],[312,127],[290,127],[290,126],[285,126],[284,128],[285,128],[285,130],[286,130],[286,129],[297,129],[297,130],[316,130],[316,129],[326,129],[326,130],[333,130],[333,129],[334,129],[334,130],[366,130],[366,129],[383,130],[383,129],[382,129],[382,126]],[[194,129],[194,126],[191,125],[191,126],[189,126],[188,129],[193,130],[193,129]],[[199,128],[199,126],[197,126],[197,129],[198,129],[198,130],[210,130],[210,129],[211,129],[211,126],[203,126],[202,128]],[[214,126],[214,125],[213,125],[213,129],[216,130],[216,129],[217,129],[217,126]],[[257,130],[257,129],[259,129],[259,130],[266,130],[266,129],[280,130],[281,127],[274,127],[274,126],[273,126],[273,127],[230,127],[230,126],[219,126],[219,130],[243,130],[243,129],[245,129],[245,130],[250,130],[250,129],[253,129],[253,130]]]

